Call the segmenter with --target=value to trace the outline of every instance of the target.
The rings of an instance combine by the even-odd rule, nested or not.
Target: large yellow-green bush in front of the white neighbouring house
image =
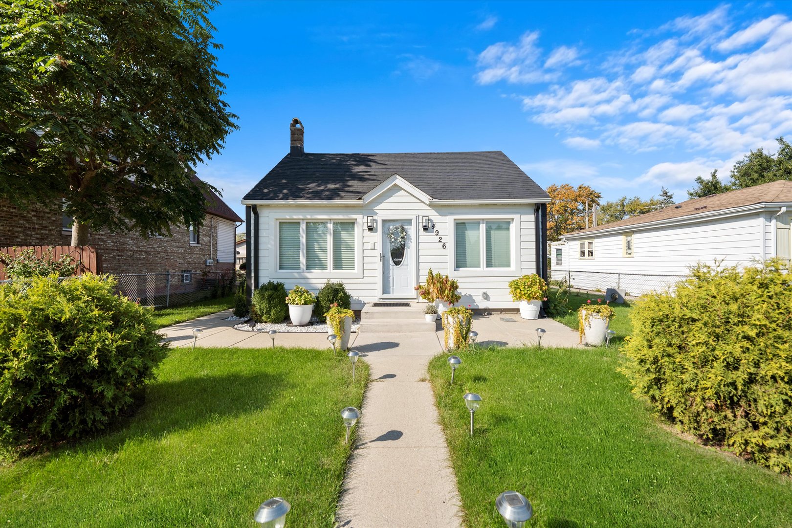
[[[683,431],[792,471],[792,274],[700,265],[632,311],[620,370]]]

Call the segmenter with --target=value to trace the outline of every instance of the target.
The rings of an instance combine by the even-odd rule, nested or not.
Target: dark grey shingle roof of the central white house
[[[432,199],[548,199],[499,150],[287,155],[244,199],[360,199],[394,173]]]

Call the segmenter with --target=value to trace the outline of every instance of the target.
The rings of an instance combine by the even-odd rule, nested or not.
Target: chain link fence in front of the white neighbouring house
[[[550,280],[565,280],[573,290],[604,292],[608,288],[615,288],[625,291],[626,297],[638,297],[650,291],[668,291],[687,276],[681,274],[550,271]]]

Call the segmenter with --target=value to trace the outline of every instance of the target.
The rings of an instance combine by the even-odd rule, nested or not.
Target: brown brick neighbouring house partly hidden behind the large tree
[[[234,270],[236,227],[242,218],[214,192],[207,192],[204,226],[193,231],[171,227],[170,237],[140,237],[136,233],[91,232],[88,244],[101,256],[105,273],[193,274]],[[12,245],[70,245],[70,218],[64,218],[59,203],[25,211],[0,200],[0,247]],[[181,282],[180,280],[180,282]]]

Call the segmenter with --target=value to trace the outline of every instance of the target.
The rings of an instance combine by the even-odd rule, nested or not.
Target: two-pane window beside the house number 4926
[[[454,226],[457,269],[511,268],[511,220],[459,220]]]

